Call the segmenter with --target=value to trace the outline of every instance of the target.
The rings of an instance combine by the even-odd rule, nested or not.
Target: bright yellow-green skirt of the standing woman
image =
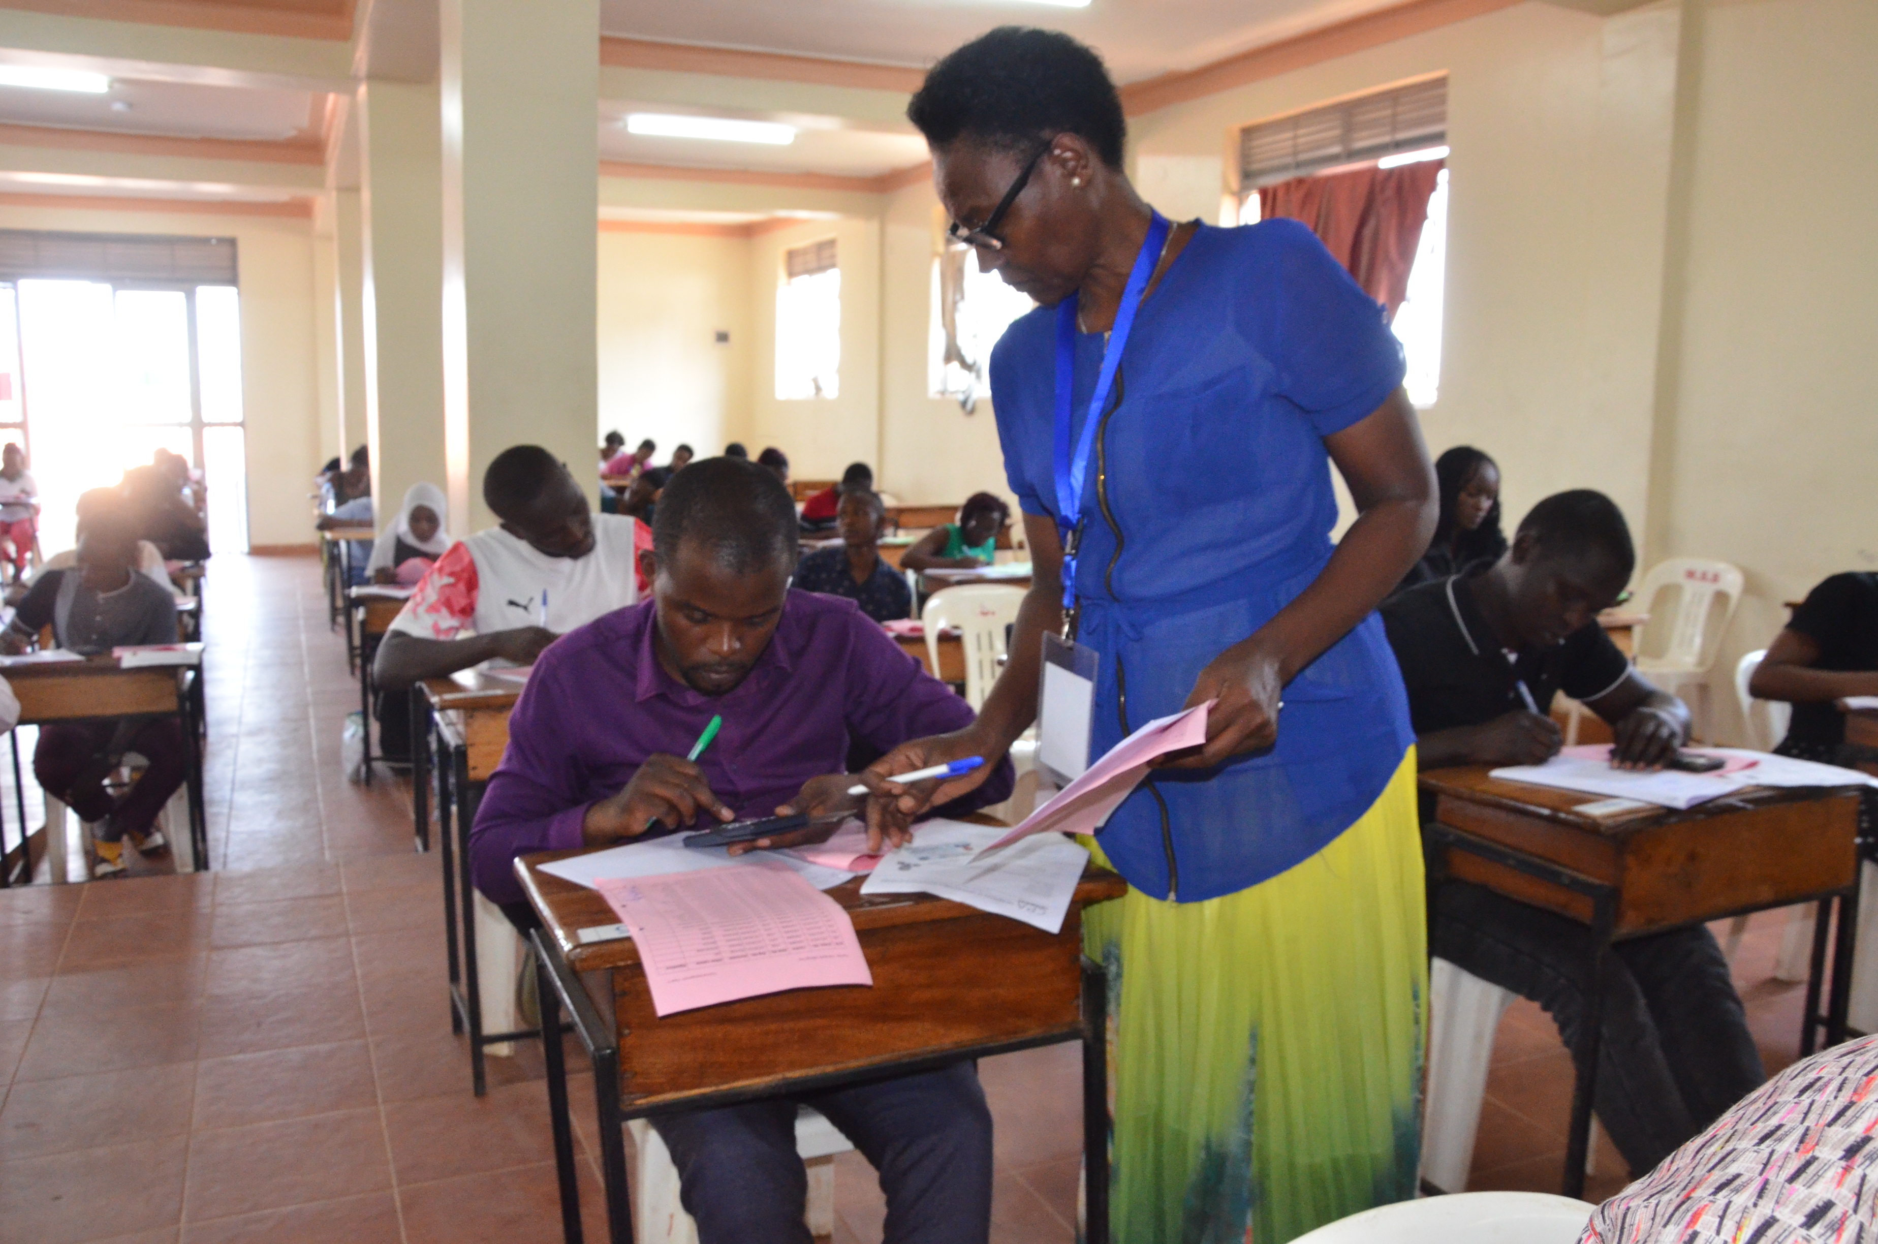
[[[1270,881],[1185,904],[1131,889],[1084,913],[1108,968],[1117,1244],[1285,1244],[1414,1195],[1414,776],[1410,748],[1360,821]]]

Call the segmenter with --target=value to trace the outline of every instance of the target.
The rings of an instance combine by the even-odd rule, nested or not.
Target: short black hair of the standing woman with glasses
[[[907,103],[931,147],[960,139],[1029,154],[1076,133],[1121,167],[1129,122],[1095,49],[1061,30],[999,26],[948,53]]]

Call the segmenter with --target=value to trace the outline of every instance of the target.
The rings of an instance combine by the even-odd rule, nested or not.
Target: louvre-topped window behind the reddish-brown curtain
[[[1433,77],[1279,117],[1239,132],[1239,224],[1270,207],[1277,182],[1362,167],[1393,169],[1448,154],[1448,79]],[[1277,194],[1277,192],[1273,192]],[[1448,259],[1448,169],[1427,199],[1427,220],[1408,269],[1408,295],[1390,321],[1408,359],[1403,381],[1418,408],[1440,391],[1440,314]]]

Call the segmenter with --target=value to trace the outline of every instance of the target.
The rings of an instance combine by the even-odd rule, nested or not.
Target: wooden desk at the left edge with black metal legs
[[[190,645],[201,660],[201,645]],[[184,787],[190,799],[186,842],[177,851],[178,870],[205,872],[208,868],[208,817],[203,812],[203,754],[197,722],[197,692],[201,673],[193,665],[143,665],[122,669],[115,656],[92,656],[83,661],[47,665],[9,665],[0,676],[19,699],[19,725],[75,722],[83,718],[120,718],[133,714],[175,716],[182,723],[188,776]],[[30,859],[30,827],[26,825],[26,791],[21,784],[19,735],[13,735],[13,795],[19,810],[19,849]],[[13,872],[13,859],[0,864],[0,887]]]

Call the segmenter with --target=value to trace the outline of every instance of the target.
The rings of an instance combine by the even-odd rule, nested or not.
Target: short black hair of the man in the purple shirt
[[[704,459],[672,475],[652,517],[652,551],[663,564],[685,541],[700,541],[717,566],[749,575],[781,562],[796,566],[796,502],[766,466],[747,459]]]

